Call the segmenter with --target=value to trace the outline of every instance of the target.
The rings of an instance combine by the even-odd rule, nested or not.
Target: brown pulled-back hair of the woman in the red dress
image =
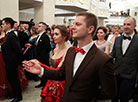
[[[68,35],[69,34],[68,34],[67,27],[65,25],[57,25],[57,26],[55,26],[55,29],[59,29],[61,35],[66,37],[65,41],[68,40]]]

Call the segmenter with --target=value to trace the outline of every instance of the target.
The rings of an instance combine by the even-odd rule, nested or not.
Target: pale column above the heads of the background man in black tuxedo
[[[55,0],[43,0],[43,4],[34,8],[34,21],[43,21],[48,25],[54,24]]]

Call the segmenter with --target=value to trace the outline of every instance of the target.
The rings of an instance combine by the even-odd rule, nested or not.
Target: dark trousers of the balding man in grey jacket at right
[[[126,79],[116,75],[118,95],[112,102],[129,102],[133,93],[135,79]]]

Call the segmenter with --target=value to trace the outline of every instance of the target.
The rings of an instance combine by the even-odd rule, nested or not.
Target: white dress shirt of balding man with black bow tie
[[[131,40],[132,40],[134,34],[135,34],[135,33],[133,33],[133,34],[130,35]],[[126,36],[126,34],[124,34],[124,36]],[[125,39],[125,40],[124,40],[124,39],[123,39],[123,42],[122,42],[122,51],[123,51],[123,54],[125,54],[125,52],[126,52],[128,46],[129,46],[131,40],[128,40],[128,39]]]

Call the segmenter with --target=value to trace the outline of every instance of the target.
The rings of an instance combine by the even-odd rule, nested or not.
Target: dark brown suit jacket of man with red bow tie
[[[74,48],[66,54],[60,70],[44,70],[42,78],[65,80],[63,102],[95,102],[116,95],[112,57],[93,45],[73,77]],[[101,89],[99,89],[101,86]]]

